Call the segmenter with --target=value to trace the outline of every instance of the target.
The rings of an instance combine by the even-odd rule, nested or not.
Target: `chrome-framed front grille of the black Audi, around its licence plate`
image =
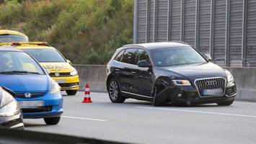
[[[195,80],[195,86],[198,89],[200,96],[203,96],[203,91],[206,89],[221,89],[224,94],[226,88],[225,78],[203,78]]]

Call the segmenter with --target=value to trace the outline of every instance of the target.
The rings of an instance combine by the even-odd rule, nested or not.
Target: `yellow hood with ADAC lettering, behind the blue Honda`
[[[74,68],[69,63],[40,63],[50,73],[70,73]]]

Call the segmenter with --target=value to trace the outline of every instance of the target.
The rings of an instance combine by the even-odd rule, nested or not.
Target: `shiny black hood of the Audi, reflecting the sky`
[[[203,63],[203,64],[193,64],[187,66],[169,66],[162,67],[161,69],[169,72],[171,75],[175,73],[175,77],[185,77],[194,81],[198,78],[211,78],[211,77],[224,77],[226,78],[226,72],[220,66],[214,63]]]

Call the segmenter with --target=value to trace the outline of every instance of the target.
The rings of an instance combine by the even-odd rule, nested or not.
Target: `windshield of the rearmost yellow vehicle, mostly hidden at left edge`
[[[28,42],[24,35],[0,35],[0,42]]]

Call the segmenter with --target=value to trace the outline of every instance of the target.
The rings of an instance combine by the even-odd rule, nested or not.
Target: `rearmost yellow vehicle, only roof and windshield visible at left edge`
[[[22,32],[0,30],[0,42],[28,42],[28,37]]]

